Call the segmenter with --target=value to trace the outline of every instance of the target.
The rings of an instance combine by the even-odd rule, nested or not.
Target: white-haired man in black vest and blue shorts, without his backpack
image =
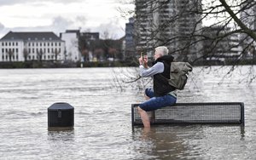
[[[165,46],[155,48],[154,63],[148,67],[147,57],[140,57],[140,75],[153,77],[153,89],[145,90],[146,101],[138,106],[138,112],[142,118],[144,128],[150,128],[150,120],[147,111],[154,111],[164,106],[172,106],[177,101],[176,89],[172,87],[166,78],[170,79],[170,66],[172,55]]]

